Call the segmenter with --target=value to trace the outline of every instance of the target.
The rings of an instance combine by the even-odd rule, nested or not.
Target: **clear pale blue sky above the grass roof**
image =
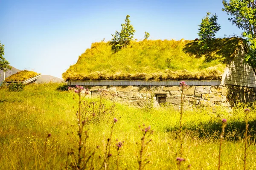
[[[228,21],[222,0],[0,0],[0,43],[4,57],[20,70],[61,78],[93,42],[121,31],[128,14],[143,40],[194,40],[207,11],[218,16],[216,37],[242,30]]]

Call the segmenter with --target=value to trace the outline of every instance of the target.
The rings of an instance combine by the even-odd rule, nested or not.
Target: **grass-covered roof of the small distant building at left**
[[[5,81],[6,82],[23,82],[26,79],[30,79],[30,78],[35,77],[37,75],[38,75],[38,73],[36,73],[34,71],[23,70],[23,71],[19,71],[15,74],[12,74],[9,77],[7,77],[5,79]]]

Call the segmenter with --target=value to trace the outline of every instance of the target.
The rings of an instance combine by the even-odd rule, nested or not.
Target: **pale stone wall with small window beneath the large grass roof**
[[[100,89],[105,95],[117,102],[127,105],[143,107],[150,101],[157,105],[156,95],[165,95],[166,103],[174,106],[180,105],[180,86],[91,86],[89,96],[96,97],[100,94]],[[184,89],[185,105],[189,108],[196,106],[230,107],[227,100],[227,87],[224,86],[186,86]]]

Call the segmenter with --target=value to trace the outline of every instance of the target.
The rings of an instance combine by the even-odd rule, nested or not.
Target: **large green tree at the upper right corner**
[[[246,61],[256,68],[256,0],[226,0],[222,1],[228,15],[228,20],[243,30],[242,37],[245,38],[249,50],[245,57]]]

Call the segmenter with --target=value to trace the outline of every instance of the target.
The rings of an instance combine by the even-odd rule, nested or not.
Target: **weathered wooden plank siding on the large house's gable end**
[[[244,62],[244,56],[239,55],[228,66],[229,71],[224,77],[224,84],[256,88],[256,75],[253,68]]]

